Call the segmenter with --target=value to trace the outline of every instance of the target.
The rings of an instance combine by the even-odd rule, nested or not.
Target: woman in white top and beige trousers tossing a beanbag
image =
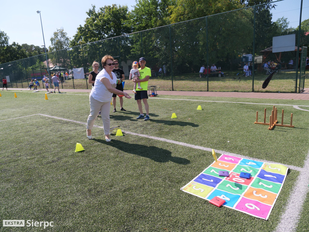
[[[92,139],[91,129],[101,111],[101,117],[104,127],[104,134],[106,142],[110,142],[109,138],[109,111],[111,108],[111,100],[113,93],[124,95],[126,98],[131,98],[126,92],[116,89],[116,75],[112,72],[114,69],[114,58],[110,55],[105,55],[102,58],[103,70],[95,78],[95,86],[92,88],[89,101],[90,101],[90,114],[87,120],[87,138]]]

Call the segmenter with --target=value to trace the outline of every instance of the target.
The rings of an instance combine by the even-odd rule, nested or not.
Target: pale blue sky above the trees
[[[0,30],[6,32],[10,37],[9,43],[18,42],[37,46],[43,45],[43,36],[40,22],[41,11],[44,39],[46,47],[50,45],[53,32],[63,27],[69,37],[73,37],[76,29],[87,17],[86,11],[91,8],[91,3],[96,9],[105,5],[127,5],[131,10],[135,0],[111,0],[111,1],[37,1],[37,0],[15,0],[13,2],[2,0]],[[285,16],[290,21],[290,26],[299,24],[300,0],[284,0],[276,3],[273,12],[273,21]],[[302,20],[309,18],[309,1],[303,1]]]

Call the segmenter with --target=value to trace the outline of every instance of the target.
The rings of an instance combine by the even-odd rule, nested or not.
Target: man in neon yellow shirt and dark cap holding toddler
[[[147,102],[148,99],[148,94],[147,94],[147,89],[148,89],[148,80],[149,77],[151,76],[151,70],[150,68],[146,67],[146,59],[144,57],[141,57],[139,59],[139,64],[140,64],[140,68],[139,68],[139,73],[141,75],[141,77],[139,79],[132,79],[133,82],[138,83],[140,82],[141,84],[141,88],[136,88],[136,93],[135,93],[135,100],[137,101],[137,105],[138,105],[138,110],[141,113],[136,119],[142,119],[144,118],[144,121],[148,121],[149,120],[149,105]],[[138,85],[136,85],[138,86]],[[143,106],[142,106],[142,100],[144,102],[145,105],[145,110],[146,110],[146,116],[144,116],[143,114]]]

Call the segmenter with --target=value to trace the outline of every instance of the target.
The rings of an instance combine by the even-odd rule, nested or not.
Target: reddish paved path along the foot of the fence
[[[28,90],[27,88],[8,88],[9,90]],[[6,90],[4,90],[6,91]],[[40,91],[45,91],[44,89]],[[90,92],[91,89],[60,89],[61,92]],[[2,91],[1,91],[2,92]],[[133,94],[132,90],[125,90]],[[57,93],[57,91],[56,91]],[[245,98],[271,98],[309,100],[309,88],[302,93],[265,93],[265,92],[202,92],[202,91],[157,91],[158,95],[201,96],[201,97],[245,97]]]

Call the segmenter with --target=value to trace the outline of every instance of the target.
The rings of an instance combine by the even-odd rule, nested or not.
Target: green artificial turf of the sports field
[[[84,93],[53,93],[49,100],[25,91],[16,92],[17,98],[13,91],[1,94],[0,120],[40,113],[87,122],[89,95]],[[309,150],[307,111],[278,106],[278,112],[285,110],[285,123],[294,114],[295,128],[269,131],[253,122],[256,111],[262,120],[264,108],[269,115],[272,105],[205,101],[309,105],[299,100],[159,96],[148,100],[150,120],[145,122],[135,119],[136,101],[125,99],[126,112],[112,113],[111,107],[111,125],[303,166]],[[203,110],[196,110],[198,105]],[[118,99],[116,108],[120,110]],[[171,119],[172,113],[177,118]],[[95,125],[102,126],[100,117]],[[94,139],[88,140],[85,125],[40,115],[0,122],[0,131],[0,218],[54,221],[46,231],[273,231],[299,175],[288,172],[265,221],[180,191],[213,162],[210,152],[130,134],[112,136],[106,143],[101,128],[93,128]],[[76,143],[85,151],[75,153]],[[304,207],[308,204],[307,200]],[[301,218],[298,228],[307,225]],[[0,226],[0,231],[25,230],[8,228],[13,230]]]

